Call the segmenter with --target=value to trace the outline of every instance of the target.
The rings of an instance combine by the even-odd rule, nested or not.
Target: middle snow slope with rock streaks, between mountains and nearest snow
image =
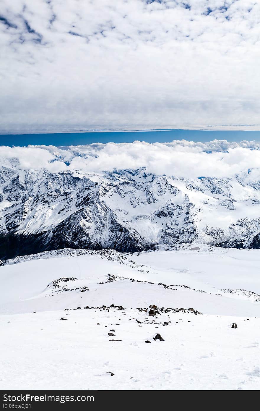
[[[22,256],[0,268],[0,313],[153,303],[260,316],[259,262],[258,250],[187,244],[140,254],[64,249]]]

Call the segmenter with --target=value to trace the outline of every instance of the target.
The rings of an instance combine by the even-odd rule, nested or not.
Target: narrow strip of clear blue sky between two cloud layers
[[[32,145],[83,145],[91,143],[131,143],[135,140],[148,143],[169,142],[173,140],[188,141],[260,141],[260,131],[202,131],[202,130],[169,130],[147,132],[88,132],[88,133],[57,133],[57,134],[0,134],[0,145],[26,146]]]

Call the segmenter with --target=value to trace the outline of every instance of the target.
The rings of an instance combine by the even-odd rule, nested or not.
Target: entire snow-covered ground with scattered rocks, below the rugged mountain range
[[[201,244],[3,261],[0,389],[258,390],[259,263]]]

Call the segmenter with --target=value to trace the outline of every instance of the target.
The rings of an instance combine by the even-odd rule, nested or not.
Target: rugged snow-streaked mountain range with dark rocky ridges
[[[147,250],[200,242],[260,248],[260,182],[0,167],[0,258],[48,249]]]

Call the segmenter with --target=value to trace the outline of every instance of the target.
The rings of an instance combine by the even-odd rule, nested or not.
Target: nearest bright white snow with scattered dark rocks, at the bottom
[[[169,326],[139,327],[136,310],[96,311],[71,310],[67,321],[66,311],[1,316],[0,388],[259,389],[259,319],[178,313]],[[237,329],[228,327],[234,321]],[[111,329],[122,341],[109,341]],[[157,332],[165,341],[154,342]]]

